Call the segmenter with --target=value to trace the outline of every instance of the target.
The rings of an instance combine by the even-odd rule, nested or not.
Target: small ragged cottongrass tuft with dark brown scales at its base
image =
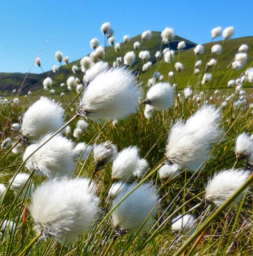
[[[117,147],[110,141],[96,144],[93,147],[93,158],[95,169],[103,168],[109,162],[112,162],[117,155]]]

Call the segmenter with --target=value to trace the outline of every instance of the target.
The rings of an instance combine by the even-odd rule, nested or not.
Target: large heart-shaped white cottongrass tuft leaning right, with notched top
[[[177,121],[171,128],[166,158],[179,168],[196,171],[210,158],[211,146],[221,140],[221,112],[205,105],[184,123]]]

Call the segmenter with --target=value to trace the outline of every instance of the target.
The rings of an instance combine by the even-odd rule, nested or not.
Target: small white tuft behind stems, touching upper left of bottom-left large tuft
[[[18,193],[24,186],[24,189],[22,189],[21,194],[19,195],[19,198],[21,199],[24,197],[28,199],[33,193],[34,185],[32,183],[32,179],[28,181],[29,176],[29,174],[21,172],[9,181],[11,183],[11,189],[13,189],[16,193]]]

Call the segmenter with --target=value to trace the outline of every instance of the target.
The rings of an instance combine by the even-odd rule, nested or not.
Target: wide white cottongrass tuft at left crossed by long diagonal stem
[[[50,137],[52,134],[45,135],[37,144],[28,146],[23,161]],[[55,135],[26,161],[26,168],[29,171],[35,169],[36,174],[47,177],[70,176],[74,170],[73,148],[73,142],[62,135]]]

